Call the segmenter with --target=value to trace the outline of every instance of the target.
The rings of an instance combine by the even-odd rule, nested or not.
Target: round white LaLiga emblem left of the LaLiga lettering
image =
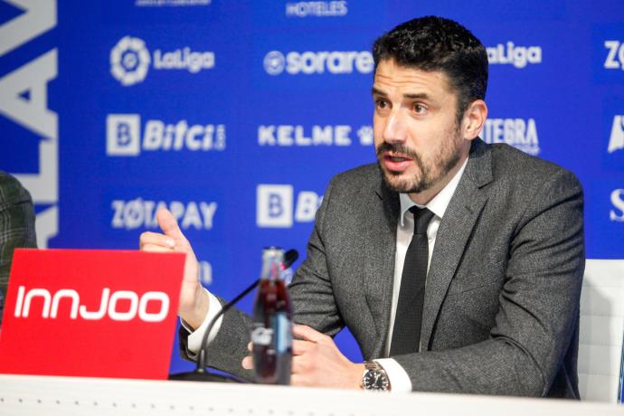
[[[125,36],[110,51],[110,73],[122,85],[134,85],[145,80],[150,61],[146,43]]]

